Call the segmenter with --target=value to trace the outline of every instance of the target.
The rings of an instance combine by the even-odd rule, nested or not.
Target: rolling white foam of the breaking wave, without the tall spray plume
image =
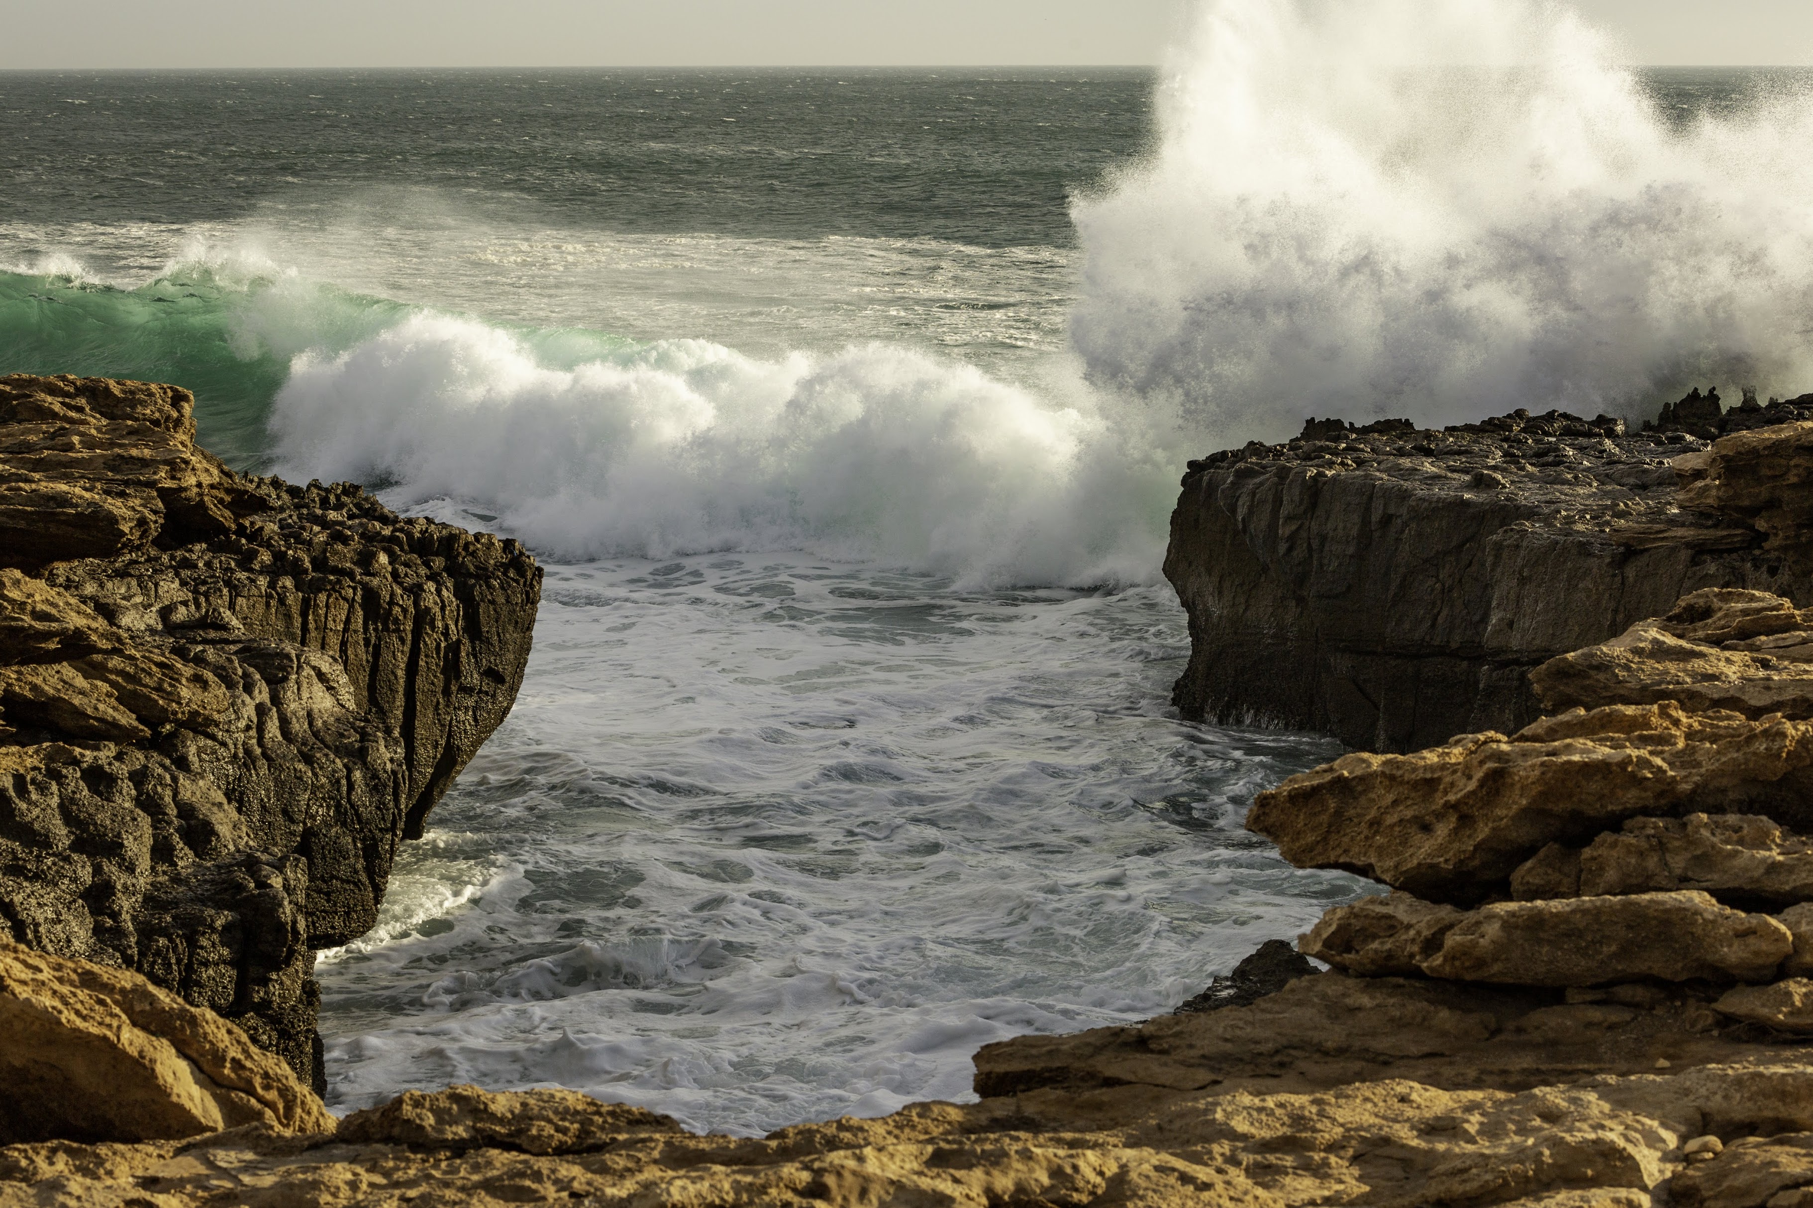
[[[881,344],[756,360],[705,340],[571,368],[421,312],[303,353],[279,471],[470,500],[558,556],[810,547],[972,580],[1148,578],[1169,473],[1070,406]]]

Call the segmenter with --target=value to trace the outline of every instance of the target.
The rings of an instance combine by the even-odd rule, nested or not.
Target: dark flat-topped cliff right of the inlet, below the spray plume
[[[1813,599],[1793,538],[1813,395],[1746,407],[1695,395],[1641,435],[1554,411],[1322,420],[1191,462],[1166,556],[1191,634],[1175,705],[1407,752],[1519,730],[1534,666],[1693,590]]]

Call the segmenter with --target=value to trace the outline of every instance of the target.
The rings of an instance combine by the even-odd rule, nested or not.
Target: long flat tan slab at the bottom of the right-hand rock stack
[[[1793,953],[1768,915],[1697,891],[1554,902],[1494,902],[1472,911],[1409,895],[1362,898],[1323,915],[1300,942],[1351,973],[1425,973],[1499,985],[1760,982]]]

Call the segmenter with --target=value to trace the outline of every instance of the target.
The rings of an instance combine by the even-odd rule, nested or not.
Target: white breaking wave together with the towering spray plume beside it
[[[422,313],[297,357],[276,451],[464,494],[560,556],[1151,581],[1177,467],[1311,415],[1637,420],[1690,386],[1804,389],[1804,85],[1682,123],[1563,7],[1213,0],[1157,150],[1073,206],[1070,350],[1039,375],[897,344],[578,364]]]

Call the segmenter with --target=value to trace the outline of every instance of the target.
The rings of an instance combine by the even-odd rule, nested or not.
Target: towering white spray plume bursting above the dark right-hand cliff
[[[1206,4],[1073,210],[1091,380],[1202,447],[1806,389],[1813,96],[1673,129],[1617,54],[1521,0]]]

